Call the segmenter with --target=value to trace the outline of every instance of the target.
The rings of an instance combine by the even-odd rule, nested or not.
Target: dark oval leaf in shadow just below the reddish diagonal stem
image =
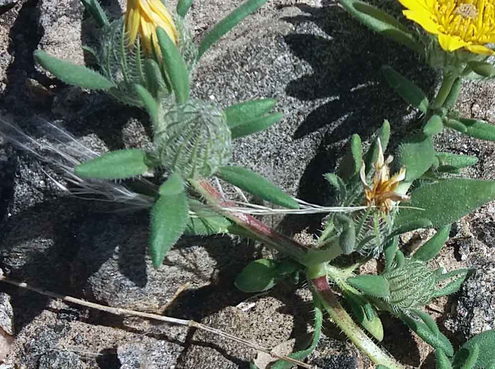
[[[242,270],[234,283],[237,288],[244,292],[266,291],[276,283],[277,266],[275,260],[254,260]]]

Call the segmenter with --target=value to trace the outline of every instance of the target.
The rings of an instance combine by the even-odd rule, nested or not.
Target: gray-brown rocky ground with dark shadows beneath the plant
[[[196,38],[238,3],[196,0],[191,12]],[[121,12],[117,0],[102,4],[111,14]],[[146,144],[142,111],[67,87],[34,64],[35,49],[83,63],[81,45],[94,40],[94,29],[79,0],[0,0],[0,116],[40,139],[46,120],[96,149]],[[335,3],[271,0],[205,55],[192,93],[220,106],[277,97],[285,118],[237,141],[234,162],[299,198],[324,204],[328,188],[322,174],[333,171],[351,134],[369,139],[389,119],[398,138],[416,117],[381,77],[386,63],[433,94],[434,73],[408,50],[360,28]],[[466,116],[495,122],[494,91],[493,83],[468,83],[458,107]],[[451,131],[436,140],[441,149],[478,156],[466,176],[495,179],[494,143]],[[308,331],[311,307],[304,286],[283,285],[253,297],[233,285],[260,254],[259,245],[227,236],[183,238],[155,271],[146,256],[146,213],[115,212],[68,197],[49,174],[57,176],[25,151],[1,144],[0,137],[5,275],[103,305],[194,319],[267,347],[299,340]],[[314,217],[265,221],[287,234],[319,226]],[[456,345],[495,328],[494,240],[495,207],[489,204],[453,227],[437,260],[447,270],[478,269],[458,294],[429,307]],[[14,338],[5,363],[13,368],[233,369],[248,368],[256,356],[209,333],[116,318],[6,285],[0,290],[0,325]],[[396,320],[383,321],[383,346],[392,355],[413,368],[434,368],[427,345]],[[311,357],[319,368],[369,367],[331,325],[325,334]]]

